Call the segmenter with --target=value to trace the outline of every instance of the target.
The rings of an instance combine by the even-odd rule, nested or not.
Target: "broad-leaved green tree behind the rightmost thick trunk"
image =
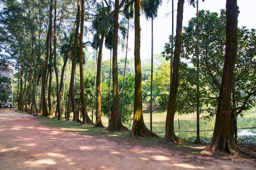
[[[199,24],[199,51],[200,51],[200,104],[203,106],[201,111],[206,113],[204,119],[211,119],[216,113],[219,89],[221,83],[221,75],[224,64],[225,56],[225,25],[226,25],[226,12],[221,10],[220,15],[210,11],[199,11],[200,24]],[[216,29],[211,29],[212,27]],[[255,84],[252,79],[255,79],[255,75],[252,74],[255,70],[255,29],[249,31],[245,27],[238,29],[238,56],[237,64],[234,71],[233,90],[232,90],[232,108],[231,108],[231,136],[234,137],[234,141],[238,144],[236,117],[241,115],[243,111],[255,106]],[[196,19],[191,18],[189,26],[184,28],[184,51],[182,57],[191,60],[194,67],[197,65],[196,56]],[[218,50],[216,50],[218,49]],[[168,50],[166,50],[168,51]],[[211,61],[211,62],[209,62]],[[187,67],[189,70],[191,68]],[[185,68],[185,69],[187,69]],[[195,72],[189,72],[191,75],[195,75]],[[186,72],[183,70],[182,72]],[[190,86],[195,86],[195,81],[191,79],[190,75],[184,75],[184,80],[189,80],[192,83]],[[193,77],[192,77],[193,78]],[[189,86],[187,86],[189,87]],[[194,93],[189,92],[190,88],[183,88],[190,95],[184,106],[190,106],[193,103],[195,96]],[[184,97],[183,97],[184,98]],[[182,103],[182,102],[178,102]],[[206,106],[206,107],[205,107]],[[245,107],[244,107],[245,106]],[[194,107],[191,105],[191,107]],[[186,109],[188,110],[188,109]],[[184,110],[185,111],[185,110]],[[178,109],[179,113],[184,111]],[[191,113],[194,111],[191,110]],[[234,130],[233,130],[234,129]]]

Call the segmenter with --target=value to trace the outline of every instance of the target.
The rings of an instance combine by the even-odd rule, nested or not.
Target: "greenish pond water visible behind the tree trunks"
[[[256,135],[256,109],[253,111],[247,111],[243,114],[243,117],[238,116],[238,135]],[[150,113],[143,113],[144,122],[148,129],[150,129]],[[166,121],[166,112],[165,113],[153,113],[152,115],[152,128],[153,132],[157,133],[159,136],[164,136],[165,134],[165,121]],[[108,118],[102,117],[102,123],[104,126],[108,126]],[[180,126],[179,126],[180,124]],[[215,117],[206,121],[200,119],[200,136],[201,137],[212,137],[213,129],[215,125]],[[254,127],[254,128],[252,128]],[[128,127],[131,129],[131,127]],[[188,115],[178,115],[174,116],[174,130],[175,134],[181,138],[195,137],[196,136],[196,114]]]

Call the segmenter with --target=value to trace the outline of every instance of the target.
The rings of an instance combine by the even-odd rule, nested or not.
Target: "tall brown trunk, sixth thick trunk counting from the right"
[[[90,120],[85,102],[85,92],[84,92],[84,80],[83,80],[83,23],[84,23],[84,0],[81,0],[81,28],[80,28],[80,37],[79,37],[79,67],[80,67],[80,97],[81,97],[81,107],[83,122],[82,124],[93,124]]]

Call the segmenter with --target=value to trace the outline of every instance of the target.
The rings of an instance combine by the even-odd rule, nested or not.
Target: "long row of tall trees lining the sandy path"
[[[2,12],[1,12],[1,50],[4,53],[9,53],[9,55],[2,55],[1,62],[16,60],[16,68],[18,70],[18,109],[25,112],[39,113],[44,117],[56,117],[62,119],[63,115],[63,103],[64,97],[66,96],[66,106],[67,112],[65,112],[66,120],[70,118],[70,106],[72,106],[72,111],[74,113],[74,121],[79,121],[81,124],[92,124],[88,116],[88,104],[92,103],[92,115],[94,115],[94,92],[92,88],[87,88],[88,84],[96,85],[96,121],[94,127],[103,127],[101,122],[101,102],[103,101],[101,88],[102,88],[102,50],[105,45],[108,49],[112,51],[112,93],[109,90],[109,101],[112,100],[112,107],[108,108],[110,123],[105,131],[113,130],[128,130],[122,123],[123,120],[123,105],[124,105],[124,94],[125,89],[129,84],[125,85],[126,82],[126,62],[127,56],[125,59],[125,66],[123,71],[123,78],[118,78],[120,75],[120,68],[118,68],[117,60],[117,49],[118,44],[124,40],[128,39],[128,30],[125,29],[125,25],[129,28],[129,21],[134,18],[135,26],[135,77],[134,77],[134,98],[130,96],[132,102],[127,102],[126,110],[130,108],[133,109],[133,124],[132,130],[130,131],[130,136],[153,136],[157,137],[155,133],[150,131],[144,124],[143,113],[142,113],[142,75],[141,75],[141,60],[140,60],[140,13],[143,9],[147,18],[151,18],[152,25],[153,19],[157,16],[157,9],[161,4],[161,0],[122,0],[119,2],[115,0],[104,1],[101,3],[95,3],[93,1],[84,1],[77,0],[76,4],[73,4],[72,1],[68,0],[51,0],[51,1],[30,1],[22,0],[20,1],[10,1],[4,0],[2,2]],[[172,1],[173,2],[173,1]],[[189,1],[192,5],[195,3],[198,5],[198,1],[194,0]],[[172,3],[173,4],[173,3]],[[182,16],[183,16],[183,4],[184,0],[178,0],[177,6],[177,26],[176,26],[176,36],[174,41],[174,36],[172,33],[172,38],[170,44],[166,44],[164,55],[170,56],[171,61],[171,77],[170,81],[167,83],[168,88],[165,92],[162,93],[162,97],[168,95],[168,99],[162,100],[162,106],[164,107],[165,101],[167,101],[167,117],[166,117],[166,135],[164,141],[172,141],[174,143],[180,143],[180,139],[175,135],[173,128],[173,118],[174,114],[177,111],[176,108],[182,110],[182,104],[184,108],[191,108],[189,111],[193,111],[192,105],[195,104],[193,100],[186,98],[186,94],[195,92],[195,86],[197,87],[197,110],[199,117],[199,106],[204,104],[208,108],[214,108],[216,102],[211,102],[208,100],[206,102],[200,102],[199,98],[208,97],[217,99],[218,98],[218,109],[216,114],[216,127],[214,130],[213,141],[207,148],[212,152],[215,150],[227,150],[232,152],[231,147],[238,148],[233,144],[232,138],[230,138],[230,113],[232,108],[233,117],[236,117],[238,108],[235,104],[237,99],[234,99],[234,96],[238,98],[238,95],[233,95],[233,107],[231,107],[231,92],[234,89],[234,94],[240,94],[241,101],[245,97],[247,92],[241,92],[240,86],[232,84],[234,79],[234,66],[236,61],[236,52],[237,52],[237,16],[238,16],[238,7],[236,6],[236,0],[227,0],[227,17],[222,13],[220,18],[222,18],[222,23],[214,23],[219,25],[213,25],[208,23],[206,18],[207,12],[201,11],[198,13],[198,18],[195,22],[195,19],[191,19],[189,27],[185,28],[184,39],[182,41]],[[173,5],[174,6],[174,5]],[[114,9],[114,10],[112,10]],[[197,8],[198,9],[198,8]],[[205,15],[205,16],[204,16]],[[212,14],[211,14],[212,15]],[[210,16],[213,17],[214,16]],[[218,16],[216,16],[218,18]],[[199,20],[199,18],[201,18]],[[227,20],[225,20],[227,18]],[[20,22],[16,22],[19,20]],[[216,19],[217,20],[217,19]],[[218,18],[219,20],[219,18]],[[212,21],[212,20],[211,20]],[[215,21],[214,21],[215,22]],[[216,21],[217,22],[217,21]],[[227,26],[225,26],[225,22]],[[234,24],[234,25],[233,25]],[[216,28],[219,26],[219,33],[210,34],[209,30],[211,28]],[[202,33],[200,33],[201,29]],[[226,30],[226,31],[224,31]],[[80,31],[80,33],[79,33]],[[208,31],[208,32],[207,32]],[[211,30],[212,31],[212,30]],[[241,33],[252,35],[252,52],[251,58],[255,60],[253,53],[253,42],[254,33],[242,29]],[[225,34],[226,33],[226,34]],[[239,32],[240,33],[240,32]],[[218,34],[218,35],[217,35]],[[86,35],[86,36],[85,36]],[[84,42],[85,38],[89,39],[92,35],[91,42]],[[122,35],[119,37],[119,35]],[[153,35],[153,29],[152,29]],[[235,36],[234,36],[235,35]],[[243,38],[241,36],[241,38]],[[195,38],[196,37],[196,38]],[[215,39],[214,39],[215,38]],[[235,39],[232,39],[235,38]],[[248,38],[245,38],[248,39]],[[244,39],[244,41],[245,41]],[[240,40],[240,39],[239,39]],[[218,42],[218,41],[221,41]],[[174,46],[175,42],[175,46]],[[241,41],[242,42],[242,41]],[[153,44],[153,37],[152,37]],[[197,47],[195,48],[195,44]],[[214,44],[217,46],[214,46]],[[224,45],[225,44],[225,45]],[[89,74],[88,66],[84,67],[83,63],[85,62],[87,52],[84,50],[86,46],[91,46],[96,55],[94,55],[93,67],[90,67],[90,75],[96,73],[96,79],[85,79],[84,73]],[[225,46],[225,50],[224,50]],[[244,46],[244,47],[242,47]],[[244,45],[241,44],[242,48],[249,48],[248,43]],[[128,48],[128,42],[126,43],[126,50]],[[173,51],[174,49],[174,51]],[[197,49],[195,51],[195,49]],[[244,56],[241,50],[241,56]],[[225,53],[224,53],[225,51]],[[239,56],[240,56],[240,53]],[[194,67],[189,67],[184,63],[180,63],[180,57],[186,57],[191,60],[193,65],[197,66],[197,71]],[[196,57],[191,57],[196,56]],[[202,58],[199,62],[199,56]],[[216,57],[218,56],[218,57]],[[209,57],[220,59],[212,60]],[[243,58],[242,57],[242,58]],[[70,79],[66,84],[65,80],[67,74],[65,73],[67,62],[71,62],[71,73]],[[87,56],[87,59],[89,57]],[[242,60],[241,58],[241,60]],[[95,60],[96,59],[96,60]],[[222,59],[222,60],[221,60]],[[224,66],[223,60],[225,59]],[[4,60],[4,61],[3,61]],[[248,59],[245,59],[246,61]],[[97,61],[97,64],[96,64]],[[216,61],[216,63],[214,63]],[[255,62],[255,61],[254,61]],[[79,90],[79,97],[76,97],[76,64],[79,63],[79,85],[77,88]],[[93,63],[93,62],[91,62]],[[218,64],[217,64],[218,63]],[[241,63],[242,64],[242,61]],[[201,71],[199,72],[199,66]],[[222,67],[223,66],[223,67]],[[163,68],[166,66],[163,66]],[[245,66],[248,68],[248,66]],[[168,65],[167,65],[168,68]],[[223,72],[222,72],[223,70]],[[254,69],[255,70],[255,69]],[[95,72],[94,72],[95,71]],[[59,73],[60,72],[60,73]],[[152,46],[152,57],[151,57],[151,69],[150,69],[150,108],[152,113],[152,101],[153,101],[153,46]],[[237,70],[241,72],[241,70]],[[248,71],[249,72],[249,71]],[[55,75],[54,75],[55,73]],[[110,60],[110,73],[111,73],[111,60]],[[197,79],[182,79],[185,75],[195,75]],[[252,71],[248,73],[248,76],[253,75]],[[222,78],[221,78],[222,76]],[[241,76],[241,75],[240,75]],[[94,76],[92,76],[94,77]],[[132,76],[130,76],[132,77]],[[155,77],[159,78],[159,77]],[[109,80],[111,76],[109,77]],[[241,86],[247,86],[248,82],[243,81],[240,77],[237,78]],[[253,77],[252,77],[253,79]],[[251,81],[252,81],[251,79]],[[54,80],[54,81],[53,81]],[[123,82],[120,83],[120,80]],[[220,84],[222,80],[222,83]],[[86,84],[84,84],[86,82]],[[89,83],[90,82],[90,83]],[[131,82],[131,81],[130,81]],[[160,81],[159,81],[160,82]],[[200,83],[199,83],[200,82]],[[56,85],[54,85],[56,83]],[[111,81],[108,82],[110,89]],[[145,82],[146,84],[146,82]],[[144,85],[145,85],[144,84]],[[180,86],[179,86],[180,84]],[[190,84],[186,86],[185,84]],[[199,84],[201,85],[199,87]],[[165,84],[166,85],[166,84]],[[56,87],[56,88],[53,88]],[[65,93],[65,86],[67,86],[68,93]],[[121,87],[120,87],[121,86]],[[146,86],[146,85],[145,85]],[[40,87],[40,92],[37,91]],[[233,87],[233,88],[232,88]],[[158,86],[160,90],[161,87]],[[187,88],[187,89],[185,89]],[[55,92],[53,92],[53,89]],[[88,91],[88,89],[90,89]],[[122,89],[120,94],[119,89]],[[157,90],[159,90],[157,89]],[[249,87],[248,87],[249,89]],[[255,89],[255,88],[252,88]],[[190,91],[189,91],[190,90]],[[206,95],[200,91],[206,91]],[[238,93],[240,91],[241,93]],[[218,93],[220,95],[218,95]],[[38,95],[39,94],[39,95]],[[92,97],[92,95],[93,97]],[[129,93],[130,94],[130,93]],[[128,95],[129,95],[128,94]],[[199,95],[200,94],[200,95]],[[210,95],[209,95],[210,94]],[[215,95],[212,97],[211,95]],[[233,94],[233,93],[232,93]],[[252,90],[250,92],[251,98],[246,98],[247,103],[244,104],[245,108],[248,109],[255,102],[254,94]],[[127,96],[126,95],[126,101]],[[40,102],[37,102],[37,96],[40,96]],[[122,97],[120,97],[122,96]],[[185,96],[185,97],[184,97]],[[249,95],[248,95],[249,96]],[[56,97],[56,98],[55,98]],[[239,99],[240,99],[239,98]],[[62,100],[61,100],[62,99]],[[78,101],[80,99],[80,101]],[[90,102],[86,101],[90,99]],[[178,99],[183,102],[176,102]],[[92,101],[92,102],[91,102]],[[106,101],[104,99],[104,101]],[[121,104],[119,101],[122,101]],[[131,100],[132,101],[132,100]],[[213,100],[212,100],[213,101]],[[38,104],[39,103],[39,104]],[[235,103],[235,104],[234,104]],[[248,104],[249,103],[249,104]],[[179,107],[180,104],[180,107]],[[211,104],[211,105],[210,105]],[[224,105],[223,105],[224,104]],[[81,107],[81,109],[78,107]],[[53,106],[56,106],[55,115]],[[110,105],[109,105],[110,106]],[[121,109],[120,109],[121,108]],[[204,107],[203,107],[204,108]],[[83,121],[79,119],[79,110],[83,117]],[[110,115],[111,110],[111,115]],[[121,113],[120,113],[121,110]],[[209,112],[212,113],[212,112]],[[127,114],[125,114],[127,115]],[[235,119],[234,119],[235,120]],[[199,121],[198,121],[199,122]],[[152,128],[150,128],[152,130]],[[222,130],[220,130],[222,129]],[[199,129],[198,129],[199,132]],[[198,136],[199,137],[199,136]]]

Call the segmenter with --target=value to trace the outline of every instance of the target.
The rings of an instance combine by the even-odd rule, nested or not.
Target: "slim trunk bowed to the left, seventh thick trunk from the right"
[[[80,0],[77,0],[77,15],[76,15],[76,33],[75,33],[75,41],[72,55],[72,70],[71,70],[71,79],[70,79],[70,99],[72,103],[73,113],[74,113],[74,121],[82,123],[81,120],[78,119],[78,110],[76,107],[76,100],[74,94],[74,81],[75,81],[75,70],[76,70],[76,51],[78,44],[78,31],[79,31],[79,23],[80,23]]]

